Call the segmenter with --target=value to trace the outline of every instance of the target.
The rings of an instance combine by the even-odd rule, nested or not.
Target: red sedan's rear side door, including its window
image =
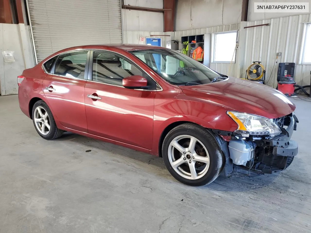
[[[87,132],[85,113],[86,63],[90,50],[60,54],[43,80],[44,95],[60,123]]]

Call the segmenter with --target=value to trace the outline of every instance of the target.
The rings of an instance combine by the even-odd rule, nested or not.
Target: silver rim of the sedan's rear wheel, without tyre
[[[50,132],[50,118],[48,112],[41,106],[35,108],[34,112],[34,121],[37,127],[37,130],[42,135],[47,135]]]

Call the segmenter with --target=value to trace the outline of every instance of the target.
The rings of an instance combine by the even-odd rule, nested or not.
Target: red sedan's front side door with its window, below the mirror
[[[120,54],[94,51],[91,57],[85,86],[88,133],[151,149],[156,82]],[[122,79],[132,75],[145,77],[149,88],[124,88]]]

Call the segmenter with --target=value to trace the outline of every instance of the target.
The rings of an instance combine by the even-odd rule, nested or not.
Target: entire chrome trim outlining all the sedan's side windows
[[[121,56],[123,56],[123,57],[125,57],[125,58],[127,58],[128,60],[131,61],[130,58],[128,58],[127,56],[125,56],[125,55],[123,55],[123,54],[121,54],[121,53],[114,52],[114,51],[107,50],[107,49],[100,49],[100,48],[98,48],[98,49],[76,48],[76,49],[72,49],[72,50],[67,51],[67,52],[64,52],[64,53],[58,53],[58,54],[55,55],[54,57],[57,57],[57,58],[58,58],[58,56],[60,56],[60,55],[62,55],[62,54],[70,53],[70,52],[74,52],[74,51],[82,51],[82,50],[89,50],[89,51],[91,51],[91,52],[89,53],[90,56],[88,56],[88,58],[86,59],[86,62],[87,62],[86,64],[88,64],[88,66],[86,66],[86,69],[87,69],[87,79],[84,79],[84,80],[86,80],[86,81],[88,81],[88,82],[96,82],[96,81],[93,81],[93,80],[90,80],[90,79],[89,79],[89,70],[90,70],[90,66],[93,66],[93,62],[90,62],[90,61],[91,61],[91,54],[92,54],[92,57],[93,57],[94,51],[106,51],[106,52],[117,53],[117,54],[119,54],[119,55],[121,55]],[[53,58],[53,57],[51,57],[51,58]],[[51,59],[51,58],[50,58],[50,59]],[[56,64],[57,58],[56,58],[56,60],[55,60],[55,62],[54,62],[53,67],[54,67],[55,64]],[[50,59],[49,59],[49,60],[50,60]],[[47,60],[47,61],[49,61],[49,60]],[[47,61],[45,61],[45,62],[47,62]],[[56,75],[56,74],[53,74],[53,73],[48,73],[48,72],[46,71],[45,67],[44,67],[45,62],[42,63],[41,68],[43,69],[43,71],[44,71],[46,74],[55,75],[55,76],[59,76],[59,77],[65,77],[65,78],[69,78],[69,79],[82,80],[82,79],[67,77],[67,76],[63,76],[63,75]],[[140,69],[142,69],[142,71],[144,71],[152,80],[154,80],[154,78],[152,78],[151,75],[149,75],[149,74],[146,72],[145,69],[143,69],[140,65],[138,65],[138,64],[135,63],[135,62],[134,62],[134,64],[137,65]],[[52,67],[51,71],[53,71],[53,67]],[[86,73],[86,71],[85,71],[85,73]],[[91,79],[92,79],[92,75],[91,75]],[[131,89],[131,90],[140,90],[140,91],[163,91],[163,88],[159,85],[159,83],[157,83],[156,80],[154,80],[154,81],[156,82],[156,86],[158,86],[160,89],[156,89],[156,90]],[[114,84],[108,84],[108,83],[102,83],[102,82],[96,82],[96,83],[125,88],[125,87],[123,87],[123,86],[118,86],[118,85],[114,85]]]

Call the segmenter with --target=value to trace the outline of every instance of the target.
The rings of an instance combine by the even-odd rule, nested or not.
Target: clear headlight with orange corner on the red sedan
[[[271,119],[241,112],[227,112],[227,114],[238,124],[237,133],[243,137],[249,135],[276,136],[281,129]]]

